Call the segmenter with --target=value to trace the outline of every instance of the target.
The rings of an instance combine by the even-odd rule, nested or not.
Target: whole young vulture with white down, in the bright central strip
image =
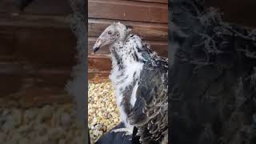
[[[132,27],[114,22],[97,38],[93,50],[109,46],[110,81],[125,128],[113,130],[133,134],[139,141],[168,142],[168,58],[158,56]]]

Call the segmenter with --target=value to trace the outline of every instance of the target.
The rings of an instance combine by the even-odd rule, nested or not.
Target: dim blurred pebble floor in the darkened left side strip
[[[74,107],[46,105],[0,108],[0,142],[6,144],[82,144],[85,131]]]

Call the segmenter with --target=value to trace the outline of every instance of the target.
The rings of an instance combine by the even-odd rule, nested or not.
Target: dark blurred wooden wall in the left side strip
[[[64,90],[76,64],[67,0],[37,0],[20,11],[0,1],[0,105],[70,102]]]

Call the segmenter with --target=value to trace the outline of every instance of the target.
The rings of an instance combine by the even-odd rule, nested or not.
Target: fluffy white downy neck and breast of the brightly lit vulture
[[[122,122],[124,122],[127,128],[130,128],[131,132],[133,126],[130,125],[127,118],[136,101],[138,79],[143,67],[143,62],[136,60],[138,54],[135,53],[136,56],[131,54],[135,52],[136,41],[140,39],[138,36],[134,36],[134,38],[137,39],[129,39],[127,42],[119,42],[113,46],[113,50],[111,50],[112,70],[110,74]],[[138,43],[141,44],[141,42]],[[133,46],[134,44],[135,46]],[[129,45],[130,50],[126,49],[126,46]],[[119,49],[120,47],[123,47],[123,49]]]

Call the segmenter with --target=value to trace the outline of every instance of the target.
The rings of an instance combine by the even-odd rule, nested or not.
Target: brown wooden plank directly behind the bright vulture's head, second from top
[[[107,26],[110,26],[114,20],[88,19],[88,36],[98,37]],[[138,34],[145,40],[168,41],[168,25],[147,22],[129,22],[120,21],[126,26],[132,26],[131,33]]]

